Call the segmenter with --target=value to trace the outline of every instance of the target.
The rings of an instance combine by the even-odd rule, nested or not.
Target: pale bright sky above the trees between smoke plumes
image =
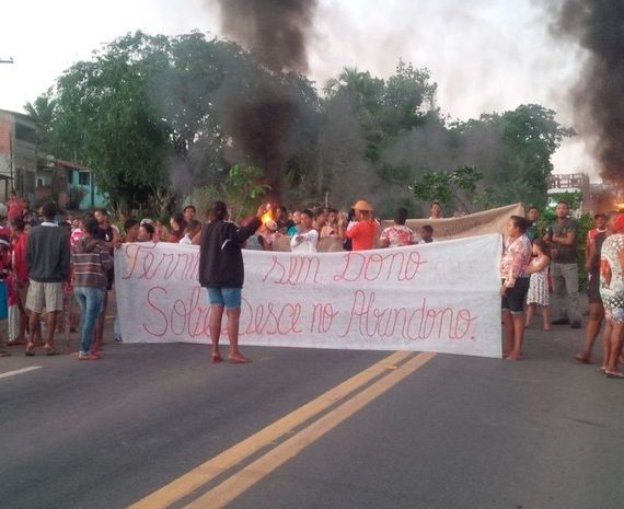
[[[261,0],[258,0],[261,1]],[[574,127],[568,89],[583,55],[548,32],[536,0],[319,0],[308,76],[323,88],[344,67],[388,78],[398,59],[428,68],[450,118],[536,103]],[[23,111],[65,69],[128,32],[222,36],[213,0],[23,0],[2,7],[0,108]],[[597,165],[578,137],[553,158],[556,173]]]

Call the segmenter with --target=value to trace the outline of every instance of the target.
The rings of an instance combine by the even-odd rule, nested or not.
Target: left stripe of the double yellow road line
[[[394,368],[396,363],[412,356],[412,351],[396,351],[370,368],[355,374],[334,389],[312,400],[294,412],[268,425],[242,442],[232,446],[227,451],[193,468],[177,479],[153,491],[141,500],[132,504],[128,509],[165,509],[181,498],[189,495],[194,489],[209,483],[215,477],[254,454],[285,433],[301,426],[319,413],[325,410],[336,402],[345,398],[354,391],[366,385],[377,377]]]

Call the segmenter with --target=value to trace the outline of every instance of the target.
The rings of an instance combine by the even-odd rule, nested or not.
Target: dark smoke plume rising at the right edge
[[[588,57],[571,89],[575,127],[592,144],[601,176],[624,182],[624,2],[564,0],[553,3],[554,28]]]

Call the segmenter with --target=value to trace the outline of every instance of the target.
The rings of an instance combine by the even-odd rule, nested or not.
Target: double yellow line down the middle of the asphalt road
[[[294,458],[308,446],[423,367],[435,356],[435,354],[394,352],[257,433],[148,495],[128,509],[169,508],[182,498],[193,494],[194,490],[242,463],[254,453],[294,432],[294,435],[285,439],[266,454],[234,472],[222,483],[193,500],[184,509],[222,508],[288,460]],[[366,389],[357,392],[367,384]],[[351,397],[347,398],[347,396]],[[337,405],[342,400],[346,401]],[[296,431],[296,428],[304,425],[332,406],[335,406],[335,408],[323,414],[303,429]]]

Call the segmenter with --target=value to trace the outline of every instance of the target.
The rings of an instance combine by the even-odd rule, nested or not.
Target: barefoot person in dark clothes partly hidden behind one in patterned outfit
[[[612,213],[611,216],[615,216],[615,213]],[[604,217],[606,218],[606,216]],[[612,233],[608,228],[609,224],[612,224],[610,219],[604,222],[603,229],[601,228],[600,231],[597,231],[591,235],[591,241],[588,238],[586,246],[585,268],[587,270],[589,320],[587,322],[587,331],[585,334],[583,350],[575,355],[575,359],[585,365],[591,362],[593,344],[596,343],[596,338],[600,333],[600,327],[604,320],[604,306],[602,305],[602,298],[600,297],[600,252],[606,236]]]

